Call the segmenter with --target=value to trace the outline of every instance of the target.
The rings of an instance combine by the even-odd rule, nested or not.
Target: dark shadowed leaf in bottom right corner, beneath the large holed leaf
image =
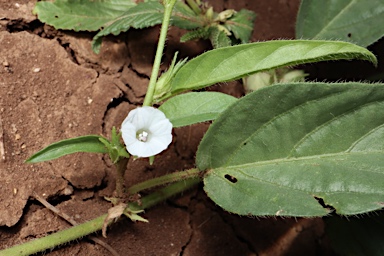
[[[338,255],[384,255],[384,215],[325,219],[325,231]]]

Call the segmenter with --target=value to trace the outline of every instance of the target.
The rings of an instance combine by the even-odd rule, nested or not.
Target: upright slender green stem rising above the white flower
[[[157,44],[156,56],[155,56],[155,61],[153,63],[151,79],[149,80],[147,94],[145,95],[143,106],[152,106],[153,94],[155,93],[155,89],[156,89],[156,81],[159,75],[160,63],[161,63],[161,58],[163,56],[165,39],[167,37],[167,32],[169,27],[169,21],[171,19],[172,9],[175,3],[176,3],[176,0],[168,0],[164,2],[165,10],[164,10],[163,23],[161,25],[161,30],[160,30],[160,38]]]

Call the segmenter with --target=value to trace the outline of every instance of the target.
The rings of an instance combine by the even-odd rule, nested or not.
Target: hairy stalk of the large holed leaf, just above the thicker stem
[[[146,180],[139,184],[133,185],[132,187],[128,188],[127,192],[128,194],[132,195],[142,190],[165,185],[171,182],[181,181],[189,178],[197,178],[198,176],[200,176],[200,174],[201,174],[201,171],[198,169],[190,169],[190,170],[181,171],[181,172],[173,172],[158,178]]]

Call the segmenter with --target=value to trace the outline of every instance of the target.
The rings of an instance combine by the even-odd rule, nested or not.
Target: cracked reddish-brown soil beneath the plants
[[[36,0],[0,0],[0,249],[70,225],[33,197],[33,192],[77,222],[105,213],[103,199],[115,187],[114,169],[103,155],[74,154],[41,164],[24,161],[58,140],[86,134],[109,137],[129,110],[140,105],[148,84],[159,27],[130,30],[104,40],[94,33],[57,31],[32,15]],[[247,8],[258,16],[252,41],[294,38],[299,0],[211,1],[216,11]],[[206,41],[180,43],[170,29],[163,69],[175,51],[194,57]],[[214,86],[237,97],[238,82]],[[171,147],[156,157],[130,161],[127,185],[194,166],[209,124],[174,130]],[[3,156],[1,156],[3,157]],[[201,187],[147,210],[146,223],[122,220],[98,237],[120,255],[332,255],[321,218],[248,218],[217,207]],[[87,239],[44,255],[110,255]]]

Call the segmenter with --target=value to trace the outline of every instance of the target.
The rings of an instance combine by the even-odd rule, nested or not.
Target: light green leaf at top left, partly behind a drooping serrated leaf
[[[37,2],[33,12],[56,29],[96,31],[135,5],[133,0],[56,0]]]

